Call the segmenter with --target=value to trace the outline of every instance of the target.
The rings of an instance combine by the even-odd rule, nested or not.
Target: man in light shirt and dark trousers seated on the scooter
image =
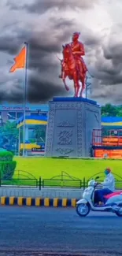
[[[99,205],[102,206],[105,204],[105,195],[109,195],[115,191],[115,179],[111,173],[111,169],[105,169],[105,180],[101,183],[102,189],[95,191],[95,201],[99,202]]]

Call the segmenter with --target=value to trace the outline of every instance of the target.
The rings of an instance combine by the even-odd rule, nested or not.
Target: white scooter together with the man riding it
[[[87,188],[84,189],[82,198],[76,202],[76,213],[80,217],[86,217],[91,211],[116,213],[122,217],[122,191],[114,191],[115,180],[110,169],[105,169],[106,178],[102,182],[103,189],[96,190],[98,186],[97,176],[88,181]],[[98,201],[95,201],[94,194],[98,195]],[[98,205],[101,200],[101,205]]]

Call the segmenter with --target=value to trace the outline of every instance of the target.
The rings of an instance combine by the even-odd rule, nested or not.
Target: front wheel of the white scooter
[[[76,213],[80,217],[86,217],[91,210],[91,206],[87,203],[80,203],[76,206]]]

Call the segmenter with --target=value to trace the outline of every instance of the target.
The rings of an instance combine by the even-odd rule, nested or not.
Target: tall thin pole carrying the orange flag
[[[23,157],[25,157],[25,118],[26,118],[26,100],[27,100],[27,68],[28,68],[28,43],[24,42],[26,46],[26,56],[25,56],[25,80],[24,80],[24,126],[23,126]]]

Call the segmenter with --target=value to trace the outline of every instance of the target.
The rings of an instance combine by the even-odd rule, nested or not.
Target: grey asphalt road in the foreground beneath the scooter
[[[23,252],[11,254],[14,250]],[[53,251],[121,255],[122,218],[112,213],[81,218],[71,208],[0,206],[0,255],[25,251],[29,256]]]

